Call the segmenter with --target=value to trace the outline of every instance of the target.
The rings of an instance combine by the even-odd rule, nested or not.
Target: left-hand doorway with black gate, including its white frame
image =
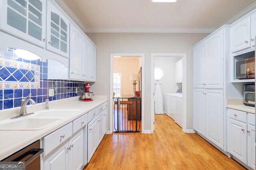
[[[110,131],[142,132],[144,54],[110,54]]]

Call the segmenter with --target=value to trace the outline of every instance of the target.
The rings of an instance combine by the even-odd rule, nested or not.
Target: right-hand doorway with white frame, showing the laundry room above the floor
[[[151,119],[165,113],[186,132],[186,54],[151,54]]]

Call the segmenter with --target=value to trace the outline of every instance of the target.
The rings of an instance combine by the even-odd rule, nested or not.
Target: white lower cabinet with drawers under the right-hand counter
[[[228,109],[228,152],[255,169],[255,115]]]

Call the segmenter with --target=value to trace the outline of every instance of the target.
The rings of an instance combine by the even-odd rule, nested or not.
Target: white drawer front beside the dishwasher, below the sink
[[[43,138],[44,155],[51,152],[72,135],[72,122]]]

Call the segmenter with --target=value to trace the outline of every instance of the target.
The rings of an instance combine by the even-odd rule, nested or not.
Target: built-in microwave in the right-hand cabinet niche
[[[251,79],[255,78],[255,57],[236,61],[236,78]]]

